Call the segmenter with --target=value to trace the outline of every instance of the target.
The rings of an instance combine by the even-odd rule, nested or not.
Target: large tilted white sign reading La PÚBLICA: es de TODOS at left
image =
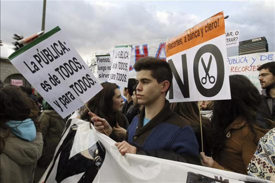
[[[102,89],[59,27],[20,48],[9,60],[62,118]]]

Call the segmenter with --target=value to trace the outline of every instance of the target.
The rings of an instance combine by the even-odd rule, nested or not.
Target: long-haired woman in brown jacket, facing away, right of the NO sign
[[[259,139],[273,126],[262,117],[260,93],[243,75],[229,76],[231,100],[214,103],[212,157],[200,153],[204,166],[247,174]],[[271,123],[269,123],[271,122]]]

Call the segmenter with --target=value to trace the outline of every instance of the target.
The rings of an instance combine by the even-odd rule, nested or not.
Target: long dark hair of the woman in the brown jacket
[[[251,81],[243,75],[230,75],[230,92],[231,100],[217,100],[214,103],[212,124],[212,143],[213,155],[218,154],[224,145],[226,139],[225,129],[237,117],[245,119],[251,128],[251,131],[256,136],[253,129],[253,124],[257,124],[264,129],[271,128],[266,123],[257,121],[257,118],[263,115],[259,109],[261,98],[258,89],[251,83]],[[265,119],[262,118],[264,121]],[[254,143],[258,144],[258,142]]]

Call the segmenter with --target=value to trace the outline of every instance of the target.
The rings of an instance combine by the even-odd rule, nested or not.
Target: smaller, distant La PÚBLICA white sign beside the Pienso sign
[[[132,47],[116,47],[112,54],[112,68],[109,82],[116,83],[121,87],[128,84]]]

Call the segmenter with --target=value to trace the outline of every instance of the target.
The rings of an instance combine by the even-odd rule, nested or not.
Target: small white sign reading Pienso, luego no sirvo
[[[110,55],[96,55],[98,80],[108,81],[112,62]]]

